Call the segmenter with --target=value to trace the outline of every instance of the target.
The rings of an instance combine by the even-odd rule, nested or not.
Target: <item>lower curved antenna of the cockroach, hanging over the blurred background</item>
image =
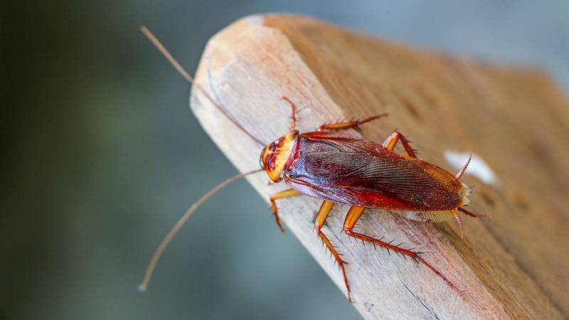
[[[186,221],[188,221],[192,213],[194,213],[204,202],[206,202],[209,198],[211,198],[211,196],[216,194],[221,189],[225,188],[225,186],[227,186],[229,183],[239,180],[244,176],[248,176],[250,174],[256,174],[257,172],[261,171],[263,170],[257,169],[254,171],[246,172],[245,174],[238,174],[237,176],[232,176],[231,178],[228,178],[227,180],[213,187],[210,191],[208,191],[208,193],[204,194],[198,201],[196,201],[196,203],[193,203],[193,205],[191,205],[191,207],[188,208],[188,210],[186,210],[186,213],[184,213],[184,215],[181,216],[178,222],[176,222],[174,227],[171,228],[170,232],[166,235],[166,237],[162,239],[160,245],[158,245],[158,248],[156,248],[156,251],[154,251],[154,255],[152,255],[150,262],[148,264],[147,271],[146,273],[144,273],[144,278],[142,279],[142,283],[138,287],[139,291],[145,292],[147,290],[148,283],[150,282],[152,274],[154,273],[154,269],[156,268],[156,263],[158,263],[158,260],[160,260],[162,253],[164,252],[164,250],[166,249],[172,238],[174,238],[174,235],[176,235],[176,233],[178,233],[178,231],[182,228],[182,226],[184,226],[184,224],[186,223]]]

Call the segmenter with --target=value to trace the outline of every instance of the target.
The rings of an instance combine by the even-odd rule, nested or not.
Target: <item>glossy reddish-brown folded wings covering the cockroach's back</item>
[[[298,191],[351,206],[393,210],[456,208],[449,172],[381,144],[337,132],[300,134],[285,181]]]

